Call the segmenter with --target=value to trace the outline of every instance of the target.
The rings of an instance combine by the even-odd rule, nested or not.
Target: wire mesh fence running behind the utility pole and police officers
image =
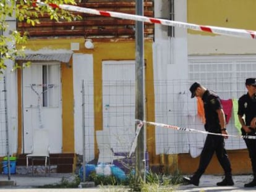
[[[199,80],[203,86],[220,96],[225,106],[224,112],[229,115],[227,129],[229,135],[234,136],[226,140],[226,149],[245,149],[245,143],[239,137],[240,127],[237,127],[235,118],[237,99],[247,93],[244,85],[245,78],[200,78]],[[153,86],[151,89],[153,91],[145,91],[147,94],[145,107],[147,119],[145,120],[193,128],[198,131],[204,130],[202,114],[200,115],[198,111],[198,101],[196,98],[190,98],[189,87],[192,83],[194,83],[192,80],[146,81],[146,87]],[[135,157],[127,157],[135,138],[134,82],[108,81],[102,85],[94,85],[93,82],[83,81],[82,85],[84,164],[98,161],[95,154],[94,141],[96,141],[98,148],[102,148],[98,149],[98,152],[102,153],[103,158],[106,156],[107,160],[103,162],[109,161],[108,152],[104,152],[109,148],[113,152],[111,164],[114,161],[117,165],[122,164],[122,168],[134,169]],[[97,86],[102,86],[103,91],[100,96],[93,93]],[[95,104],[95,101],[98,103]],[[97,117],[97,114],[102,116],[102,119]],[[100,134],[100,131],[95,132],[99,130],[95,123],[100,119],[103,128],[100,131],[103,136],[98,138],[95,133]],[[203,133],[178,131],[161,126],[153,128],[155,135],[146,133],[147,143],[155,144],[153,155],[190,153],[192,157],[197,157],[202,151],[206,136]]]

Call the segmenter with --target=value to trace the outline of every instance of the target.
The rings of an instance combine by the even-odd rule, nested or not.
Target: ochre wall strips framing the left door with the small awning
[[[37,51],[38,49],[70,49],[70,40],[28,40],[25,44],[26,49]],[[18,70],[18,154],[22,152],[22,90],[21,72]],[[72,59],[70,67],[66,64],[61,65],[62,81],[62,152],[74,152],[74,91]]]

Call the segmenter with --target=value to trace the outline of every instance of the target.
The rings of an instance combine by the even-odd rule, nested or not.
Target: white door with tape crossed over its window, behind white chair
[[[50,152],[61,152],[61,78],[60,64],[32,64],[23,69],[23,144],[32,151],[33,130],[49,130]]]

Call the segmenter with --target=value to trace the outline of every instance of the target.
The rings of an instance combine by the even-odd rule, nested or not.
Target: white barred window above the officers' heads
[[[189,80],[199,81],[221,98],[239,98],[245,93],[245,79],[255,77],[253,57],[205,57],[189,59]]]

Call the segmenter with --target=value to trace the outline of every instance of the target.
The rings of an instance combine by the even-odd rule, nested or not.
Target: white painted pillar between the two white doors
[[[83,154],[82,80],[85,80],[85,161],[94,159],[93,56],[73,54],[75,152]]]

